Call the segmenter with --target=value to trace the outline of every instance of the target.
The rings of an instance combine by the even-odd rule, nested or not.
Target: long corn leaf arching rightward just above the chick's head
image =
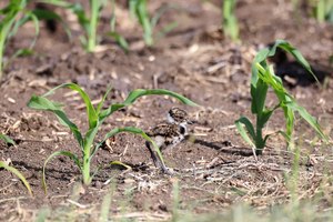
[[[125,99],[125,101],[123,103],[119,103],[119,104],[112,104],[110,105],[107,110],[101,111],[100,115],[100,122],[102,122],[107,117],[109,117],[110,114],[112,114],[114,111],[128,107],[130,104],[132,104],[138,98],[143,97],[143,95],[170,95],[173,97],[175,99],[178,99],[179,101],[181,101],[184,104],[188,105],[193,105],[196,107],[198,104],[194,103],[193,101],[189,100],[188,98],[169,91],[169,90],[162,90],[162,89],[157,89],[157,90],[143,90],[143,89],[137,89],[130,92],[130,94],[128,95],[128,98]]]

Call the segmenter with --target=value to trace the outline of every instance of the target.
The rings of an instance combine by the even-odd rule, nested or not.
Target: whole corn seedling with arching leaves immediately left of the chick
[[[65,112],[62,110],[62,105],[58,102],[53,102],[48,99],[48,95],[52,94],[56,90],[58,90],[60,88],[69,88],[73,91],[77,91],[80,94],[80,97],[82,98],[82,100],[84,101],[85,107],[87,107],[87,115],[88,115],[88,123],[89,123],[88,124],[89,129],[85,132],[84,137],[80,132],[79,128],[67,117]],[[180,100],[181,102],[183,102],[184,104],[196,105],[191,100],[189,100],[175,92],[172,92],[172,91],[137,89],[137,90],[133,90],[132,92],[130,92],[130,94],[128,95],[128,98],[124,100],[123,103],[114,103],[114,104],[111,104],[107,109],[102,109],[105,98],[108,97],[110,91],[111,91],[111,88],[107,90],[105,94],[103,95],[101,102],[98,104],[97,108],[92,105],[91,100],[90,100],[89,95],[85,93],[85,91],[83,91],[78,84],[74,84],[74,83],[64,83],[64,84],[53,88],[52,90],[50,90],[49,92],[47,92],[46,94],[43,94],[41,97],[38,97],[38,95],[31,97],[30,101],[28,102],[28,107],[32,108],[32,109],[50,111],[50,112],[54,113],[57,115],[57,118],[59,119],[60,123],[68,127],[70,129],[70,131],[73,133],[75,140],[79,143],[81,152],[82,152],[82,159],[79,159],[78,155],[75,155],[74,153],[68,152],[68,151],[57,151],[57,152],[53,152],[51,155],[49,155],[48,159],[44,161],[44,165],[43,165],[43,185],[44,185],[44,188],[47,188],[47,185],[46,185],[46,165],[52,158],[54,158],[57,155],[65,155],[65,157],[69,157],[71,160],[73,160],[82,174],[83,183],[87,185],[90,184],[93,175],[98,171],[97,170],[93,174],[91,174],[92,158],[94,157],[94,154],[97,153],[99,148],[103,144],[103,142],[107,139],[109,139],[120,132],[130,132],[130,133],[141,135],[143,139],[145,139],[147,141],[151,142],[153,144],[160,159],[163,161],[161,152],[160,152],[159,148],[157,147],[157,144],[154,143],[154,141],[152,141],[141,129],[138,129],[138,128],[131,128],[131,127],[115,128],[115,129],[111,130],[110,132],[108,132],[101,142],[94,144],[94,138],[95,138],[99,129],[101,128],[101,124],[104,122],[104,120],[109,115],[111,115],[113,112],[132,104],[133,102],[135,102],[135,100],[138,98],[143,97],[143,95],[151,95],[151,94],[163,94],[163,95],[173,97],[173,98]]]

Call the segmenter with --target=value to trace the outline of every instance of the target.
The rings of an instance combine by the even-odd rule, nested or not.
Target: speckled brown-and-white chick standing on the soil
[[[147,134],[157,143],[162,152],[168,148],[174,148],[185,139],[188,135],[186,124],[192,124],[192,122],[188,119],[186,111],[179,108],[172,108],[168,112],[168,122],[158,124]],[[164,173],[172,174],[160,160],[152,144],[150,142],[145,142],[145,145],[150,151],[154,165],[161,169]]]

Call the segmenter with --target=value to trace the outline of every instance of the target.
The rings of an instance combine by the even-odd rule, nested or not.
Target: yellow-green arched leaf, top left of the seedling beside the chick
[[[87,115],[88,115],[88,121],[89,121],[89,129],[92,129],[97,125],[97,121],[98,121],[98,115],[97,112],[91,103],[91,100],[89,98],[89,95],[82,90],[82,88],[75,83],[64,83],[64,84],[60,84],[53,89],[51,89],[49,92],[47,92],[46,94],[43,94],[42,97],[48,97],[50,94],[53,94],[56,90],[60,89],[60,88],[69,88],[73,91],[79,92],[79,94],[81,95],[81,98],[83,99],[85,107],[87,107]]]

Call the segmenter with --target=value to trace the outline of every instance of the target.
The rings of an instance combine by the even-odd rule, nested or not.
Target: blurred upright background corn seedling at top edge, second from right
[[[235,17],[236,0],[224,0],[223,12],[223,31],[224,34],[230,37],[233,41],[239,41],[239,24]]]

